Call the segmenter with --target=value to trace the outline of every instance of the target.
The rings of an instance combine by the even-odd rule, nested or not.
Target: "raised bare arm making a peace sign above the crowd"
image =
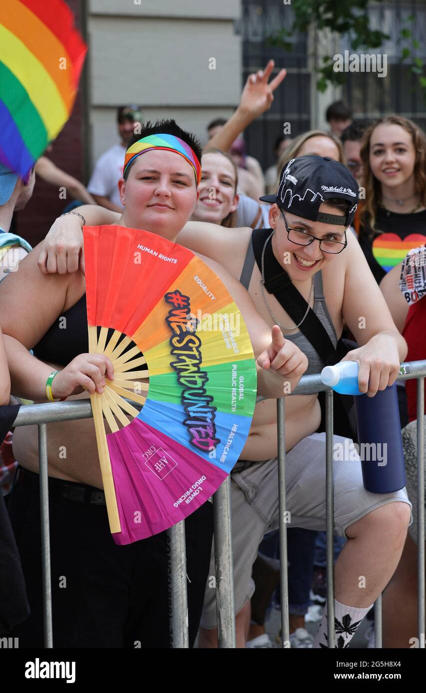
[[[273,102],[273,91],[281,84],[286,76],[284,69],[268,83],[269,77],[275,67],[275,62],[269,60],[264,70],[259,70],[248,76],[246,85],[241,93],[237,110],[230,119],[223,125],[220,132],[217,132],[209,140],[209,147],[216,147],[223,152],[227,152],[232,142],[239,137],[241,132],[258,118],[262,113],[271,108]]]

